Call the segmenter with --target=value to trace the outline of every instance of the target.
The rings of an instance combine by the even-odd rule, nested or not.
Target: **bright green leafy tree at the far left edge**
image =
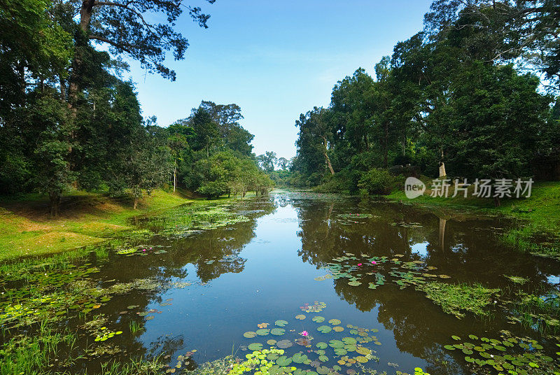
[[[52,120],[54,112],[60,114],[56,123],[66,120],[52,108],[52,99],[58,95],[48,86],[66,73],[72,55],[71,35],[53,20],[52,13],[52,1],[0,3],[0,194],[36,187],[34,147],[49,122],[46,118]],[[38,103],[41,105],[31,113],[30,107]],[[45,122],[32,122],[41,119],[37,113],[41,108],[48,111]],[[48,126],[56,130],[52,122]],[[66,125],[60,126],[67,130]],[[43,151],[44,157],[62,157]]]

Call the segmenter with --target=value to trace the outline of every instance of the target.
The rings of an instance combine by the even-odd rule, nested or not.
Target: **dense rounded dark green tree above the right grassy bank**
[[[530,162],[547,148],[549,97],[539,80],[519,76],[512,66],[483,62],[465,66],[454,79],[446,108],[444,152],[453,176],[531,176]]]

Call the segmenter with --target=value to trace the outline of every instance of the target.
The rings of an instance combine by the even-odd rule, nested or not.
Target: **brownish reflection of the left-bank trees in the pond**
[[[244,211],[244,215],[250,220],[183,238],[155,236],[146,239],[144,247],[153,250],[148,250],[145,256],[127,257],[116,254],[112,249],[109,251],[108,260],[97,262],[92,259],[94,265],[98,263],[102,266],[96,278],[110,281],[107,286],[112,283],[130,283],[138,279],[157,281],[158,286],[153,289],[133,290],[111,300],[99,309],[99,313],[105,313],[116,320],[120,329],[125,332],[120,336],[120,346],[126,348],[127,353],[146,358],[169,355],[169,360],[176,360],[176,355],[180,354],[177,351],[183,348],[183,337],[162,336],[151,344],[144,343],[139,334],[144,330],[146,320],[144,317],[137,316],[135,312],[146,311],[150,304],[162,303],[162,294],[169,288],[170,281],[189,276],[188,264],[193,264],[196,277],[202,283],[207,283],[225,273],[243,271],[245,260],[239,257],[239,253],[255,237],[256,220],[263,215],[273,213],[276,205],[272,198],[262,197],[237,201],[230,206],[230,209],[233,212]],[[157,250],[165,250],[166,253],[155,254],[154,251]],[[209,260],[214,262],[208,262]],[[127,311],[127,306],[131,305],[139,307]],[[130,332],[129,327],[132,322],[141,327],[137,335]],[[117,355],[116,358],[120,356]],[[99,363],[97,365],[99,366]]]

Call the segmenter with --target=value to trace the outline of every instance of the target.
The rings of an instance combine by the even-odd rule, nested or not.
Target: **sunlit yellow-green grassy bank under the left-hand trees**
[[[132,208],[128,197],[73,192],[64,197],[59,218],[48,215],[48,199],[29,194],[0,199],[0,260],[59,253],[106,241],[128,229],[134,215],[185,204],[181,192],[155,190]]]

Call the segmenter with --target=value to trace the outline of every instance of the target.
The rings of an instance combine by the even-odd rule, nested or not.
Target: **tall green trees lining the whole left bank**
[[[127,55],[175,79],[163,62],[188,47],[173,29],[183,9],[206,27],[200,8],[171,0],[1,2],[0,194],[48,194],[57,215],[70,188],[127,190],[134,207],[165,184],[207,197],[269,191],[239,106],[203,101],[163,128],[142,117],[134,85],[120,78]]]

